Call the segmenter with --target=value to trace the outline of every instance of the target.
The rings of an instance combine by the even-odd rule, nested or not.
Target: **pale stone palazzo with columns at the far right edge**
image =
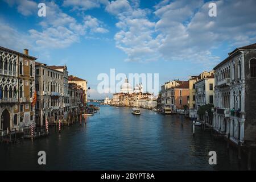
[[[236,144],[255,142],[256,44],[235,49],[214,71],[214,130]]]

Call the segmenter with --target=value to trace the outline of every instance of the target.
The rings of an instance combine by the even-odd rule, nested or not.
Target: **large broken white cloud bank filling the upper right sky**
[[[119,20],[120,31],[114,39],[127,61],[182,60],[210,67],[220,61],[212,53],[217,47],[244,46],[256,40],[256,1],[216,3],[217,17],[210,17],[209,2],[164,0],[155,6],[154,22],[148,18],[150,11],[125,0],[110,3],[106,11]]]

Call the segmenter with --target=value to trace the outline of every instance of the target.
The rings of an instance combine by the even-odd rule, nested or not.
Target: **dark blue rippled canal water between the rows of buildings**
[[[47,170],[238,170],[246,169],[235,149],[213,140],[190,120],[180,126],[175,115],[141,109],[101,106],[87,124],[65,127],[59,134],[50,129],[46,138],[0,145],[0,169]],[[46,152],[46,165],[39,166],[38,152]],[[216,151],[217,165],[208,163]]]

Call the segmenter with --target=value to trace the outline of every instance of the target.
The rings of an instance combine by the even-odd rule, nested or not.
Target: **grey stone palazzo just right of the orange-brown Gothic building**
[[[64,72],[54,67],[37,62],[35,64],[36,124],[40,126],[46,125],[46,119],[51,123],[67,118]]]

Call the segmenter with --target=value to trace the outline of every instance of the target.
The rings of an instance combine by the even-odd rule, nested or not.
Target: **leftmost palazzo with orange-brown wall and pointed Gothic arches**
[[[35,123],[35,57],[0,47],[0,115],[2,132]]]

